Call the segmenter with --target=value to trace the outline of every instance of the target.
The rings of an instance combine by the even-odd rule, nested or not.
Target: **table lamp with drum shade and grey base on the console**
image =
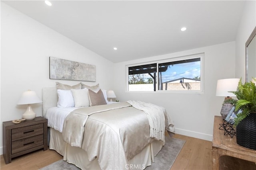
[[[217,88],[216,88],[216,96],[225,96],[225,100],[231,99],[230,96],[236,96],[230,91],[236,91],[238,86],[239,78],[227,78],[227,79],[220,79],[217,81]],[[224,100],[224,101],[225,101]],[[226,119],[228,113],[232,109],[233,105],[229,103],[224,103],[222,105],[220,114],[223,119]]]

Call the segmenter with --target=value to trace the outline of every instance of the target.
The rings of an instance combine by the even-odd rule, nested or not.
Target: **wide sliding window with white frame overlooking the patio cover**
[[[128,66],[128,91],[202,91],[203,53]]]

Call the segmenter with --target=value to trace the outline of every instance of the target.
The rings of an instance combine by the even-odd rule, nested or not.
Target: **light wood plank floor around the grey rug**
[[[174,135],[175,138],[186,141],[180,154],[176,158],[171,170],[211,170],[212,169],[212,142]],[[38,150],[24,156],[13,158],[10,164],[5,164],[3,155],[1,170],[38,170],[63,157],[54,150]]]

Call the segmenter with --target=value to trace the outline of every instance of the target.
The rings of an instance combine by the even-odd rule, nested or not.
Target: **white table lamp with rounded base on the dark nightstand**
[[[26,120],[33,120],[36,117],[36,113],[32,110],[30,104],[41,103],[42,100],[38,98],[36,92],[28,90],[22,93],[22,96],[18,102],[18,105],[28,104],[27,110],[23,113],[22,118]]]

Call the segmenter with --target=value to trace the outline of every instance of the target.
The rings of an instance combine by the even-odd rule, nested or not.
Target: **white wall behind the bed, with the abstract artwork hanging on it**
[[[26,111],[26,106],[17,105],[22,92],[31,89],[41,98],[42,88],[54,87],[56,81],[80,82],[50,80],[50,56],[96,65],[96,82],[83,83],[112,88],[112,62],[1,2],[1,154],[2,122],[21,119]],[[32,107],[42,116],[42,104]]]

